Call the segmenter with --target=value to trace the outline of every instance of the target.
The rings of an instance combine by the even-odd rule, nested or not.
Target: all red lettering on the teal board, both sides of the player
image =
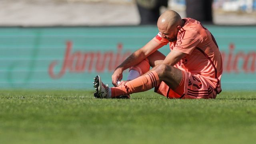
[[[82,72],[113,72],[114,69],[123,62],[131,52],[122,52],[123,45],[117,45],[117,52],[81,52],[72,53],[72,42],[66,42],[66,52],[62,60],[60,70],[55,70],[60,66],[58,60],[51,62],[48,73],[52,78],[61,78],[66,72],[82,73]],[[226,73],[255,73],[256,52],[238,51],[235,53],[235,45],[230,44],[228,52],[221,52],[223,61],[223,71]]]

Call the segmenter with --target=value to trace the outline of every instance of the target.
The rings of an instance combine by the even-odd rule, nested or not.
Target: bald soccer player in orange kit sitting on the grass
[[[173,10],[161,14],[157,26],[159,33],[116,68],[115,87],[103,84],[100,76],[94,78],[96,98],[129,98],[152,88],[167,98],[216,98],[221,92],[222,58],[210,31]],[[158,49],[168,43],[171,52],[164,56]],[[127,81],[119,83],[128,68]]]

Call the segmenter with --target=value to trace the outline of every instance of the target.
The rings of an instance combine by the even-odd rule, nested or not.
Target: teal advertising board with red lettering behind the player
[[[256,26],[206,27],[222,52],[222,89],[256,90]],[[157,33],[156,26],[2,27],[0,88],[89,90],[96,75],[112,85],[116,66]]]

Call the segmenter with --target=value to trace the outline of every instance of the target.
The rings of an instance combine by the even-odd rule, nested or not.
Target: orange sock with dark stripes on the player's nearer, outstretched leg
[[[111,97],[124,96],[136,92],[144,92],[156,87],[160,80],[158,74],[153,70],[146,75],[140,76],[126,84],[111,88]]]

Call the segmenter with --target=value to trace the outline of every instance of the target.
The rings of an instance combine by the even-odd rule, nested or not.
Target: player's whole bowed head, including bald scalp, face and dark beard
[[[164,34],[170,42],[176,40],[175,36],[177,36],[178,30],[183,25],[184,25],[184,22],[182,18],[177,12],[173,10],[166,10],[164,13],[160,15],[157,21],[157,27],[159,31],[162,34]],[[170,33],[173,33],[173,32],[174,34],[171,34],[171,36],[168,37],[168,35],[170,35]]]

